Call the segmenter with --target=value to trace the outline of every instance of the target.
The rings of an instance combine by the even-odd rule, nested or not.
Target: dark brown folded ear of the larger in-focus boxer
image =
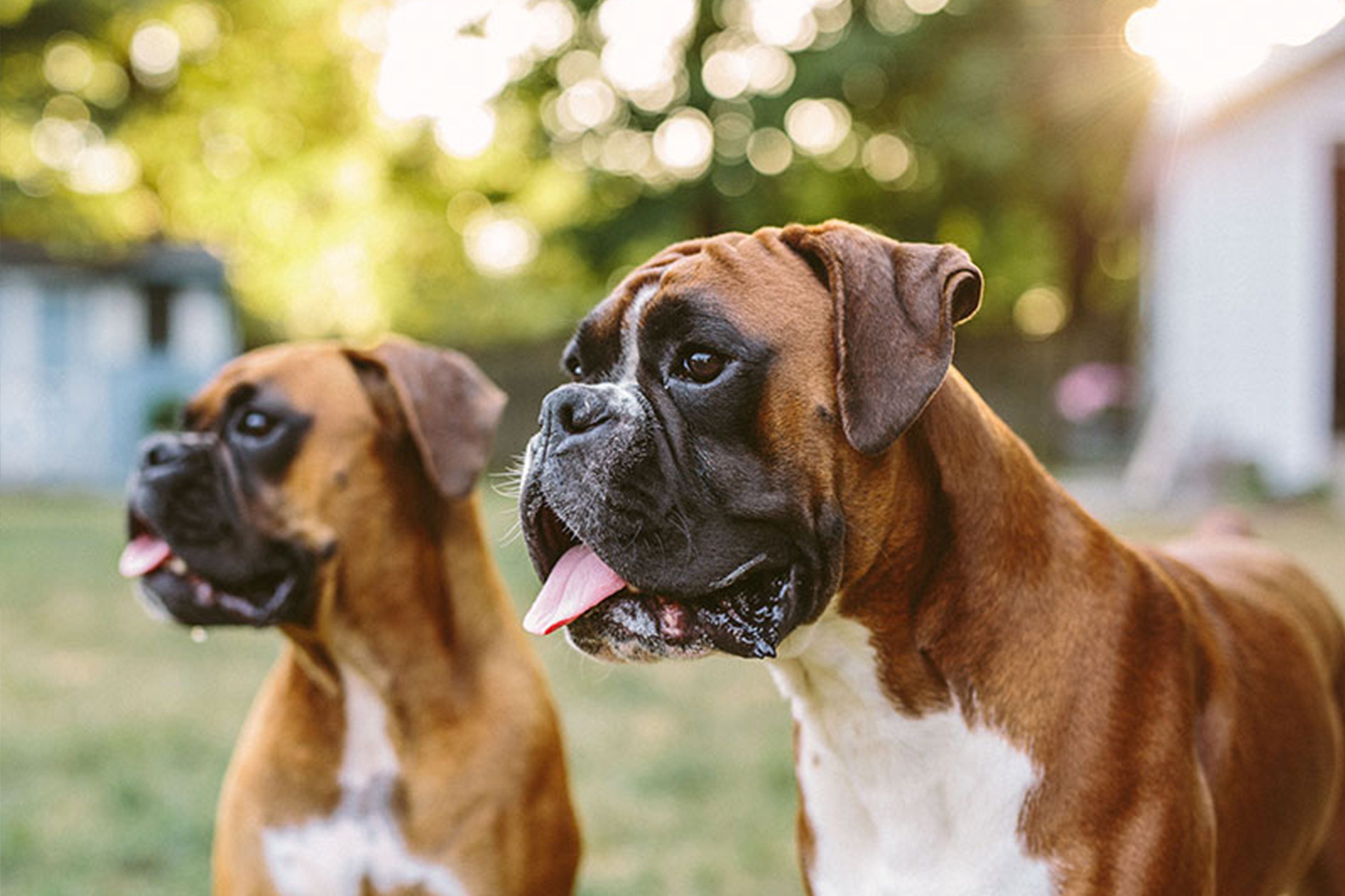
[[[981,306],[981,271],[956,246],[898,243],[845,222],[780,238],[831,292],[846,439],[878,454],[920,415],[952,361],[954,326]]]

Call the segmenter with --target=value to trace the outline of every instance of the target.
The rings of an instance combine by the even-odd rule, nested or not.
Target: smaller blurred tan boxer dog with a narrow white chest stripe
[[[288,646],[225,779],[219,895],[569,893],[561,740],[472,485],[504,395],[409,340],[245,355],[147,442],[122,572]]]

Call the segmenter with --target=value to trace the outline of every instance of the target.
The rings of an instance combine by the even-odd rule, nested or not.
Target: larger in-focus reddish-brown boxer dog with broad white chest
[[[1275,551],[1079,508],[950,368],[981,273],[851,224],[679,243],[566,349],[527,627],[765,658],[818,896],[1345,893],[1345,631]]]

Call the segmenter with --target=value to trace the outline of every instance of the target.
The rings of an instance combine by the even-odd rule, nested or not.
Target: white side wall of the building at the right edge
[[[1154,424],[1184,462],[1254,461],[1286,492],[1330,474],[1342,141],[1340,60],[1176,137],[1154,184],[1146,298]]]

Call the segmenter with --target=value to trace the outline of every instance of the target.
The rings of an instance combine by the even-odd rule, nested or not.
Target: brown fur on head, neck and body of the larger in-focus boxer
[[[882,251],[841,251],[846,240]],[[820,277],[810,251],[835,253]],[[901,251],[837,222],[764,228],[674,247],[627,282],[660,277],[646,313],[679,290],[721,297],[726,317],[775,349],[760,439],[811,506],[843,509],[841,614],[873,633],[894,712],[956,701],[1032,758],[1042,778],[1020,833],[1052,861],[1061,893],[1345,896],[1345,630],[1326,595],[1227,520],[1167,548],[1122,541],[956,371],[913,422],[886,422],[904,430],[890,447],[858,445],[849,418],[869,410],[838,403],[866,388],[834,341],[849,339],[837,334],[849,301],[838,265]],[[925,294],[940,301],[943,289],[950,302],[966,266],[920,253],[936,265],[925,277],[947,278]],[[904,270],[846,277],[921,289]],[[628,298],[619,290],[611,316],[593,317],[619,321]],[[970,293],[951,301],[966,306]],[[892,313],[866,336],[921,314]],[[905,363],[951,352],[958,314],[925,314],[928,339],[902,337]],[[803,803],[806,869],[812,842]]]

